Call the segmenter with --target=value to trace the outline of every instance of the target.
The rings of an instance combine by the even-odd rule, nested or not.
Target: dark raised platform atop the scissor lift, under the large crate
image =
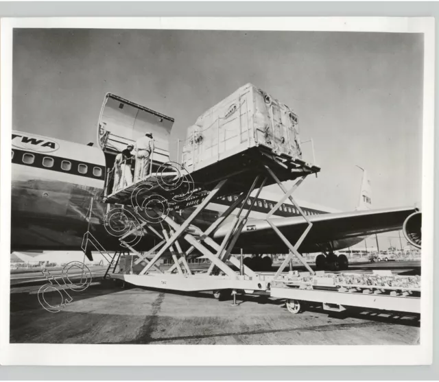
[[[306,163],[300,158],[292,158],[285,154],[276,155],[264,146],[250,147],[244,152],[239,152],[233,156],[215,161],[209,166],[186,173],[191,182],[188,187],[193,187],[191,197],[199,198],[207,195],[221,180],[227,180],[227,184],[224,184],[224,187],[217,193],[217,197],[239,194],[252,186],[254,178],[258,174],[266,174],[265,166],[269,166],[281,182],[296,180],[299,177],[317,174],[320,171],[320,167]],[[183,171],[185,170],[183,169]],[[185,188],[171,189],[172,187],[166,185],[167,180],[171,182],[171,179],[175,176],[176,169],[171,167],[171,163],[169,166],[163,165],[158,169],[158,172],[150,174],[145,180],[108,195],[104,198],[104,202],[130,205],[133,195],[141,200],[156,194],[165,198],[169,202],[169,206],[173,208],[185,208],[187,200],[178,198],[178,195],[182,193],[182,189],[185,190]],[[254,188],[261,187],[262,182],[263,178],[260,177],[257,183],[254,184]],[[275,182],[274,178],[269,177],[265,180],[264,186],[269,186]]]

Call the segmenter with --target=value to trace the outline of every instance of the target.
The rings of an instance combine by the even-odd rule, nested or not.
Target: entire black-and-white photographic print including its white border
[[[12,353],[177,348],[174,364],[200,345],[224,360],[277,345],[307,363],[427,362],[430,24],[270,20],[11,27]]]

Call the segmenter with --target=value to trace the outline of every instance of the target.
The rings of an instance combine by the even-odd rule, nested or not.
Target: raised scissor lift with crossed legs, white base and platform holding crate
[[[233,174],[230,174],[230,169],[233,169]],[[143,200],[148,200],[152,195],[165,198],[169,204],[169,213],[163,213],[160,206],[154,206],[154,203],[149,205],[150,210],[156,213],[160,224],[146,221],[141,223],[141,228],[145,228],[148,232],[153,232],[161,241],[150,251],[140,254],[124,241],[126,237],[139,230],[139,227],[134,227],[130,232],[126,232],[126,235],[123,235],[120,240],[123,246],[137,254],[138,259],[134,261],[133,265],[139,265],[141,262],[145,262],[146,265],[140,272],[136,272],[137,274],[134,274],[134,272],[108,272],[108,277],[119,278],[128,283],[143,287],[180,291],[222,289],[268,291],[273,275],[253,272],[231,252],[241,231],[246,226],[257,195],[259,195],[263,187],[275,183],[278,184],[284,195],[266,215],[265,219],[272,226],[278,237],[287,245],[292,254],[295,254],[300,259],[309,272],[313,272],[305,259],[297,251],[298,246],[305,239],[312,224],[307,219],[307,216],[302,213],[300,206],[294,201],[294,198],[292,198],[292,193],[308,175],[317,174],[318,171],[320,171],[319,167],[305,163],[303,160],[272,154],[269,150],[264,150],[263,147],[252,147],[244,153],[220,160],[190,174],[191,181],[193,181],[190,199],[198,198],[200,204],[196,206],[195,211],[182,224],[178,224],[173,219],[173,215],[176,211],[185,208],[191,200],[180,200],[178,198],[180,191],[162,187],[163,176],[171,177],[172,171],[150,174],[142,182],[133,184],[122,191],[110,195],[105,201],[112,204],[132,206],[133,194],[140,205]],[[283,185],[283,182],[286,180],[296,180],[296,182],[290,189],[286,189]],[[250,198],[250,194],[256,189],[256,198]],[[195,217],[202,213],[214,198],[226,195],[239,195],[239,198],[204,232],[191,232],[191,224]],[[273,213],[287,198],[291,200],[303,218],[308,222],[306,230],[298,242],[294,244],[287,240],[272,223],[271,219]],[[248,200],[250,200],[250,205],[248,205]],[[244,209],[244,206],[246,206],[246,209]],[[212,239],[213,233],[236,208],[239,211],[233,218],[230,229],[224,236],[224,239],[222,239],[222,242],[217,243]],[[161,230],[158,229],[158,226],[161,226]],[[189,249],[185,252],[181,250],[181,241],[185,241],[187,246],[189,246]],[[187,265],[187,256],[195,250],[211,261],[209,270],[204,274],[193,274]],[[157,267],[157,264],[169,251],[174,259],[174,265],[167,272],[163,272]],[[239,272],[228,264],[236,267]],[[175,271],[177,272],[173,273]]]

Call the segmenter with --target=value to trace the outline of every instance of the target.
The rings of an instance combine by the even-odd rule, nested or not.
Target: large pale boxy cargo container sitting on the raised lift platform
[[[259,145],[274,154],[302,158],[297,115],[261,89],[246,84],[187,129],[182,165],[192,172]]]

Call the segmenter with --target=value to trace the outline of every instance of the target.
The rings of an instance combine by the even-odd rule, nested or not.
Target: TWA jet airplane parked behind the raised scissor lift
[[[106,95],[106,102],[109,101],[123,103],[127,108],[135,106],[149,113],[148,115],[159,117],[160,123],[169,121],[171,125],[174,121],[170,117],[115,95]],[[102,115],[101,113],[100,120]],[[103,126],[99,123],[99,145],[102,143]],[[115,136],[112,138],[115,139]],[[126,140],[120,136],[117,139],[119,147],[126,146]],[[102,147],[13,131],[11,251],[80,250],[84,233],[88,230],[106,250],[126,250],[121,248],[117,237],[108,235],[105,228],[105,215],[112,208],[110,204],[103,202],[108,187],[106,177],[118,150],[120,149],[115,147],[111,153],[110,150],[102,150]],[[158,168],[165,161],[163,158],[157,158],[166,157],[163,148],[158,147],[157,152],[157,156],[152,157],[154,168]],[[193,225],[201,230],[205,229],[236,199],[237,195],[216,198],[209,204],[209,208],[195,219]],[[288,252],[268,222],[262,219],[278,199],[268,191],[261,191],[246,228],[237,239],[233,253],[239,253],[240,250],[245,254],[254,255]],[[194,200],[193,204],[199,202],[200,200]],[[371,209],[370,181],[366,171],[356,211],[342,212],[307,202],[298,203],[313,223],[312,229],[298,250],[304,253],[320,253],[316,257],[319,269],[346,269],[347,256],[337,256],[334,252],[351,247],[369,235],[381,232],[403,229],[407,240],[420,247],[421,213],[418,208],[409,206]],[[180,217],[184,219],[189,216],[194,208],[195,206],[188,206],[180,212]],[[285,202],[274,216],[274,223],[292,243],[297,241],[307,226],[305,219],[289,201]],[[219,226],[213,235],[215,241],[220,242],[226,235],[232,224],[230,220],[226,219],[222,226]],[[150,250],[157,243],[156,237],[145,235],[136,249]],[[86,251],[86,256],[91,259],[91,250]]]

